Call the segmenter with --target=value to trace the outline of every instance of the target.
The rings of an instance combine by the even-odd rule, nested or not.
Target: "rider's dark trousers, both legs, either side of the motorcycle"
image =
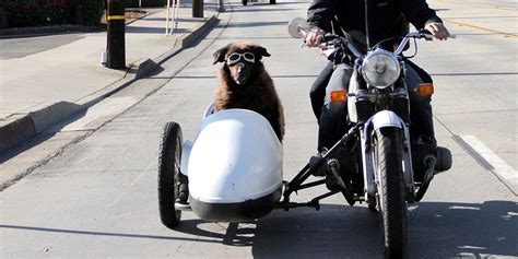
[[[434,123],[431,97],[421,97],[415,87],[421,82],[432,82],[429,75],[416,64],[408,60],[407,85],[411,90],[410,97],[410,134],[415,141],[425,138],[435,143]],[[318,151],[322,148],[331,148],[348,130],[345,103],[332,103],[329,93],[349,86],[352,68],[345,64],[334,67],[329,62],[315,81],[310,90],[311,107],[319,122]],[[331,79],[332,78],[332,79]]]

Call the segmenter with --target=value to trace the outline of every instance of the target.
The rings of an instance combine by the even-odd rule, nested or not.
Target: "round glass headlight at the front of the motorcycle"
[[[362,74],[368,84],[378,89],[392,85],[399,78],[401,67],[398,58],[389,51],[378,49],[365,57]]]

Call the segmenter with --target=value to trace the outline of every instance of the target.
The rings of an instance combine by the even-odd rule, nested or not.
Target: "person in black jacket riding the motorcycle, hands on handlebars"
[[[368,38],[366,37],[365,4],[367,5]],[[306,36],[306,44],[318,47],[326,33],[334,33],[350,38],[357,47],[366,51],[382,39],[403,36],[407,21],[417,30],[425,28],[440,40],[447,39],[448,30],[442,20],[429,9],[426,0],[314,0],[308,9],[308,23],[311,26]],[[385,48],[393,48],[398,40],[388,42]],[[367,46],[368,45],[368,46]],[[392,49],[391,49],[392,50]],[[327,54],[330,55],[329,52]],[[352,61],[351,58],[349,58]],[[415,89],[427,74],[415,64],[409,62],[407,68],[407,85]],[[330,67],[332,75],[329,81],[326,76],[319,76],[314,86],[327,83],[323,106],[319,116],[318,151],[331,148],[346,130],[345,118],[348,114],[346,103],[332,103],[330,93],[349,86],[352,75],[351,62],[342,62]],[[326,73],[326,69],[322,71]],[[420,76],[421,75],[421,76]],[[429,78],[429,76],[427,76]],[[429,80],[428,80],[429,81]],[[345,83],[344,83],[345,82]],[[311,104],[315,104],[322,95],[315,94],[311,90]],[[416,126],[411,131],[414,138],[424,139],[435,144],[434,126],[432,118],[432,106],[429,97],[420,97],[415,91],[410,91],[411,121]],[[321,103],[321,102],[320,102]]]

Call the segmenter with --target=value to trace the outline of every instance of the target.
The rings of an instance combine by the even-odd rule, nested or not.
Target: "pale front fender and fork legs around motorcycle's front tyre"
[[[363,176],[365,183],[365,200],[372,202],[376,197],[377,189],[377,168],[374,163],[373,136],[376,130],[387,127],[398,128],[403,131],[402,141],[402,168],[404,183],[407,186],[407,201],[412,203],[415,201],[414,179],[412,170],[412,154],[410,149],[410,130],[407,123],[395,113],[390,110],[381,110],[370,117],[360,130]]]

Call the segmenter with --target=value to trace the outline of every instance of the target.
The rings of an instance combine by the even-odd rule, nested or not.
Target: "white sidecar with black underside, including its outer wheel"
[[[174,125],[181,134],[179,126]],[[180,208],[172,202],[178,200],[180,174],[188,178],[189,204],[202,220],[246,222],[268,214],[278,204],[283,180],[282,144],[261,115],[246,109],[212,113],[211,106],[196,139],[181,146],[181,136],[167,138],[165,131],[158,170],[158,201],[165,225],[179,224]],[[167,139],[177,140],[170,144],[176,146],[169,148],[172,152],[165,151]],[[173,163],[164,163],[172,157]],[[163,168],[166,164],[172,164],[170,168]]]

